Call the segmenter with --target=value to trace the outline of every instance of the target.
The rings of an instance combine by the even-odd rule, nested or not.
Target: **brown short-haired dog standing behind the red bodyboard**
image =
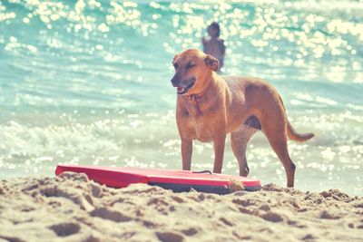
[[[250,137],[262,131],[281,160],[294,186],[295,165],[289,158],[287,136],[305,141],[313,133],[299,134],[289,123],[279,93],[268,82],[257,78],[217,73],[218,60],[199,50],[186,50],[174,57],[177,88],[176,121],[182,139],[182,169],[191,169],[192,140],[214,142],[214,169],[221,173],[227,133],[239,161],[240,176],[249,174],[246,147]]]

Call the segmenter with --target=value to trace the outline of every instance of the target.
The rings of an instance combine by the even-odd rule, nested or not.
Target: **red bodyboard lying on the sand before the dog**
[[[243,184],[246,190],[260,189],[259,179],[216,173],[198,173],[190,170],[58,165],[55,174],[59,175],[64,171],[85,173],[89,179],[113,188],[124,188],[132,183],[147,183],[169,189],[172,189],[170,187],[172,184],[176,187],[186,186],[197,190],[202,187],[227,189],[232,180],[237,180]]]

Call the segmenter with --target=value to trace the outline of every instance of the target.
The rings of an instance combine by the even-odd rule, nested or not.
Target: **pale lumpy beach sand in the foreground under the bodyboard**
[[[0,181],[0,241],[363,241],[363,198],[269,184],[215,195],[84,174]]]

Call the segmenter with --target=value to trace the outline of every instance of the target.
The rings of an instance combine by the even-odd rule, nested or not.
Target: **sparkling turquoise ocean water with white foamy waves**
[[[305,143],[289,142],[296,187],[363,195],[363,2],[0,1],[0,179],[57,163],[180,169],[172,57],[221,24],[224,74],[258,76]],[[260,133],[250,176],[285,185]],[[194,142],[192,169],[212,169]],[[223,172],[238,174],[227,141]]]

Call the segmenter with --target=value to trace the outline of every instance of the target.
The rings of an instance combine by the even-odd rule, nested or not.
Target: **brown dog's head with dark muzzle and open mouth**
[[[195,49],[175,55],[172,65],[175,68],[172,86],[180,95],[202,92],[211,81],[211,73],[218,71],[216,58]]]

